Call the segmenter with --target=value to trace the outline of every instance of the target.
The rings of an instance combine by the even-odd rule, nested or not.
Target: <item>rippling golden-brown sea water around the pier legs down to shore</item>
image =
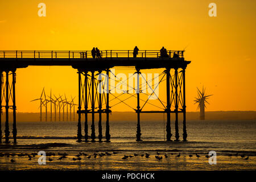
[[[82,124],[84,124],[82,122]],[[96,136],[98,135],[96,122]],[[54,165],[38,167],[37,162],[28,163],[27,159],[20,160],[20,165],[10,164],[9,159],[1,159],[0,169],[256,169],[256,122],[255,121],[188,121],[187,133],[188,142],[164,142],[165,125],[163,122],[141,122],[141,133],[143,142],[135,142],[137,122],[110,122],[110,143],[77,143],[74,139],[77,133],[77,122],[18,122],[18,144],[1,144],[0,152],[38,152],[39,150],[51,152],[68,152],[75,155],[80,151],[93,154],[94,152],[117,151],[118,154],[107,156],[102,160],[90,160],[84,163],[71,164],[67,160],[65,163],[55,163]],[[182,140],[182,122],[180,122],[180,139]],[[2,123],[2,132],[3,132]],[[83,125],[82,125],[83,126]],[[12,125],[10,123],[10,131]],[[174,123],[172,122],[172,139],[175,139]],[[105,135],[105,122],[102,123],[102,132]],[[84,127],[82,127],[84,134]],[[4,134],[4,132],[3,132]],[[90,123],[89,123],[90,134]],[[12,139],[11,139],[12,140]],[[96,139],[97,140],[97,139]],[[216,151],[218,158],[217,166],[209,166],[205,154],[209,151]],[[122,161],[123,155],[155,154],[156,151],[170,155],[160,164],[154,156],[150,159],[135,158]],[[181,153],[184,158],[175,155]],[[188,154],[200,154],[204,160],[188,158]],[[243,160],[229,154],[245,154],[250,156],[250,160]],[[172,159],[173,158],[173,159]],[[72,159],[72,157],[71,157]],[[183,160],[181,160],[183,159]],[[200,158],[203,159],[203,158]],[[113,165],[111,165],[111,164]],[[52,163],[51,163],[52,164]],[[67,168],[68,164],[68,168]],[[146,166],[145,166],[146,165]],[[83,167],[84,166],[84,167]]]

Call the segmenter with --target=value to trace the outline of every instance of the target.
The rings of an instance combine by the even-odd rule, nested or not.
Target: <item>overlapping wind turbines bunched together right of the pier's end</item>
[[[195,104],[198,103],[197,109],[200,108],[200,119],[204,120],[205,119],[205,102],[207,102],[207,99],[213,95],[208,95],[205,96],[205,88],[203,86],[203,90],[202,92],[200,92],[199,88],[197,88],[197,97],[195,101]],[[207,102],[207,104],[209,104],[209,102]]]

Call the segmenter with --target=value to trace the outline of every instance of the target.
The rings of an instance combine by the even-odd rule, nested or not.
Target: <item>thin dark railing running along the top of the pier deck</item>
[[[114,57],[133,57],[133,50],[105,50],[100,51],[101,58],[114,58]],[[184,51],[167,51],[168,57],[184,58]],[[137,57],[159,58],[160,51],[155,50],[141,50],[138,51]],[[0,51],[1,58],[49,58],[49,59],[88,59],[93,58],[91,51]]]

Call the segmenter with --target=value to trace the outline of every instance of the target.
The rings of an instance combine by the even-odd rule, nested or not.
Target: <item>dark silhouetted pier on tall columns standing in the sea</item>
[[[110,142],[109,114],[111,107],[109,97],[113,96],[110,92],[109,76],[113,74],[110,69],[114,67],[135,67],[137,76],[137,85],[132,88],[136,92],[137,103],[134,111],[137,113],[137,141],[141,141],[141,114],[166,113],[166,139],[172,140],[171,133],[171,113],[175,113],[175,140],[180,140],[178,113],[183,113],[183,141],[187,140],[186,129],[186,105],[185,105],[185,69],[191,61],[184,59],[184,51],[167,51],[168,57],[161,57],[159,51],[143,50],[139,51],[137,57],[133,57],[133,50],[105,50],[101,51],[101,58],[93,58],[90,51],[0,51],[0,108],[5,108],[5,143],[9,143],[9,112],[13,110],[13,139],[16,143],[16,102],[15,102],[15,83],[16,69],[34,66],[70,66],[77,70],[79,80],[79,106],[77,114],[79,115],[77,123],[77,142],[82,142],[82,135],[85,136],[85,142],[89,139],[88,114],[92,116],[92,125],[90,126],[90,140],[96,141],[94,115],[98,114],[98,141],[102,142],[102,114],[106,114],[106,142]],[[140,95],[143,94],[140,89],[139,79],[142,72],[147,69],[164,68],[162,74],[166,81],[166,104],[162,101],[163,110],[143,110],[147,101],[142,103]],[[174,72],[174,75],[171,74]],[[98,80],[98,75],[104,74],[104,84]],[[11,82],[9,81],[11,78]],[[107,80],[107,81],[106,81]],[[100,85],[100,86],[99,86]],[[98,89],[102,89],[98,92]],[[129,94],[129,93],[127,93]],[[115,97],[115,96],[114,96]],[[117,97],[115,97],[117,98]],[[119,99],[119,98],[117,98]],[[120,102],[123,102],[122,100]],[[175,109],[171,110],[171,106]],[[85,114],[84,134],[81,130],[81,114]],[[1,123],[1,117],[0,117]],[[2,142],[2,126],[0,125],[0,142]]]

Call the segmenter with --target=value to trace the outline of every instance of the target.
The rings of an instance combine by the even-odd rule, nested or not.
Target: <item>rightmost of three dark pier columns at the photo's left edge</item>
[[[15,84],[16,84],[16,73],[12,71],[13,75],[13,142],[17,143],[17,129],[16,129],[16,96],[15,96]]]

